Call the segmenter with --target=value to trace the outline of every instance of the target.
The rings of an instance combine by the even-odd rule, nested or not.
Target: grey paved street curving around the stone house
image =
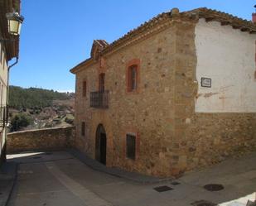
[[[241,206],[248,199],[254,200],[256,195],[255,153],[188,173],[176,180],[180,183],[177,185],[171,181],[138,184],[107,175],[92,170],[64,151],[23,153],[8,156],[8,160],[20,163],[8,206],[186,206],[199,200],[221,206]],[[223,184],[225,189],[205,190],[203,186],[210,183]],[[163,185],[172,189],[161,193],[153,189]],[[231,200],[232,203],[226,203]]]

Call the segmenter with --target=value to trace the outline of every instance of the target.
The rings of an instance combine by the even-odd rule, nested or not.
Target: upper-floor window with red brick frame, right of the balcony
[[[140,60],[135,59],[128,62],[127,68],[127,91],[135,92],[138,91],[139,83],[139,65]]]

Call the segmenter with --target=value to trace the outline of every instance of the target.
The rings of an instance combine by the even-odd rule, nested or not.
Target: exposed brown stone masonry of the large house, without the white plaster
[[[106,132],[106,165],[146,175],[178,176],[255,151],[255,113],[195,112],[198,16],[187,15],[177,9],[162,14],[155,25],[148,22],[152,27],[138,28],[129,40],[107,46],[97,58],[71,69],[76,76],[75,146],[80,151],[95,158],[99,124]],[[138,65],[138,89],[128,92],[127,69],[133,64]],[[99,91],[102,73],[109,108],[92,108],[89,95]],[[136,136],[135,160],[126,156],[128,133]]]

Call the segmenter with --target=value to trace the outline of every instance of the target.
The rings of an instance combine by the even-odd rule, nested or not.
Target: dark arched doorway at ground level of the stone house
[[[106,165],[107,136],[102,124],[97,127],[95,141],[95,159]]]

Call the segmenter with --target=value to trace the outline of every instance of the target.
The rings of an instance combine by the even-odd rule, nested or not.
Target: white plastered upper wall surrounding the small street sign
[[[195,32],[196,113],[256,113],[256,35],[205,19]],[[201,87],[202,77],[211,88]]]

